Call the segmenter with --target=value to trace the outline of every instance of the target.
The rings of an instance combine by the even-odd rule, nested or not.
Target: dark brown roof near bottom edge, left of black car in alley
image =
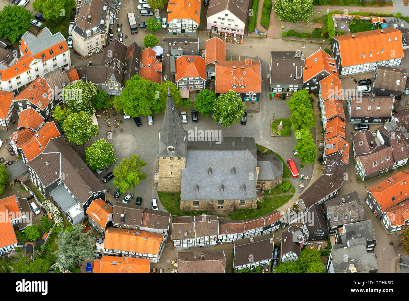
[[[252,255],[254,263],[273,258],[274,234],[256,236],[234,241],[234,263],[237,267],[249,263]]]

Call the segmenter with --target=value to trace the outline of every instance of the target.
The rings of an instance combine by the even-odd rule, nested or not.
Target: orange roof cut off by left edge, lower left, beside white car
[[[2,248],[17,243],[11,219],[20,217],[21,212],[15,195],[0,199],[0,214],[2,215],[0,220],[0,248]],[[9,218],[5,218],[6,216]]]

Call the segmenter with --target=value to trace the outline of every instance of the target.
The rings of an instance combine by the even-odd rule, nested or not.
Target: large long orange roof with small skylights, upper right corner
[[[353,35],[353,38],[352,34],[333,37],[339,42],[342,67],[403,57],[402,32],[399,29],[388,27]]]

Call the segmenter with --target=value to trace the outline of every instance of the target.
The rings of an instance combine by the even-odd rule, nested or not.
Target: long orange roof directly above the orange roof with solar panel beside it
[[[158,254],[163,239],[164,235],[159,233],[108,228],[105,231],[104,247],[119,251]]]

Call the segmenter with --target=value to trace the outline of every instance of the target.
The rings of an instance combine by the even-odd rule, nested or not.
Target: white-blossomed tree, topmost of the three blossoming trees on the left
[[[63,98],[67,102],[72,113],[86,112],[88,116],[93,114],[90,102],[97,95],[97,87],[90,81],[76,81],[63,88]]]

